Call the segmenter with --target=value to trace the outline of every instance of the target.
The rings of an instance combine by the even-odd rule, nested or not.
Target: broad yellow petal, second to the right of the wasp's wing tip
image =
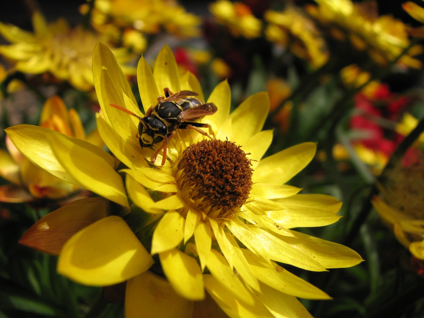
[[[243,145],[262,130],[268,112],[268,93],[260,92],[249,96],[230,115],[233,122],[233,135],[230,140]]]

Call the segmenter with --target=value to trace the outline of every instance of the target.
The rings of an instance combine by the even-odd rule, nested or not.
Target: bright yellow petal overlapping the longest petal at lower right
[[[308,271],[326,271],[326,269],[317,260],[309,254],[299,251],[294,246],[280,239],[278,234],[272,235],[262,229],[250,227],[255,235],[256,241],[253,244],[262,244],[268,257],[274,261],[290,264]],[[284,237],[288,240],[290,237]]]

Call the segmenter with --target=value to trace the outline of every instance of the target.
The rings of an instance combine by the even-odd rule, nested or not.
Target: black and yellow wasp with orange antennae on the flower
[[[116,104],[109,104],[138,118],[139,124],[136,137],[139,139],[141,148],[152,147],[162,142],[162,145],[151,157],[151,162],[154,164],[156,156],[163,149],[162,166],[165,165],[166,161],[167,142],[176,134],[176,129],[194,129],[200,134],[213,139],[211,135],[214,133],[209,124],[190,120],[215,114],[218,110],[214,103],[204,103],[204,101],[193,97],[198,94],[192,91],[182,90],[173,93],[169,87],[165,87],[163,92],[165,96],[159,95],[156,106],[150,106],[143,117],[139,117]],[[209,134],[200,128],[209,128]]]

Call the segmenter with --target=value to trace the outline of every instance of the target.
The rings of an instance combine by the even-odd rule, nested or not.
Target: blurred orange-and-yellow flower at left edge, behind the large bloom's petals
[[[8,152],[0,150],[0,176],[13,185],[0,187],[0,201],[23,202],[41,198],[62,199],[74,195],[80,187],[53,176],[34,164],[31,154],[42,151],[34,139],[41,135],[45,137],[55,131],[67,136],[102,146],[97,130],[86,137],[81,119],[74,109],[69,112],[64,102],[58,96],[49,98],[42,109],[39,126],[28,135],[30,125],[20,125],[7,128],[6,146]],[[22,156],[22,154],[24,156]]]

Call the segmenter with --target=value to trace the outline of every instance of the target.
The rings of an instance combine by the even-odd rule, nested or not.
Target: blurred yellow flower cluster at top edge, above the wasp
[[[87,10],[88,4],[80,8],[82,13]],[[145,34],[165,30],[180,37],[198,36],[200,18],[175,0],[96,0],[91,22],[109,41],[122,41],[141,53],[147,46]]]

